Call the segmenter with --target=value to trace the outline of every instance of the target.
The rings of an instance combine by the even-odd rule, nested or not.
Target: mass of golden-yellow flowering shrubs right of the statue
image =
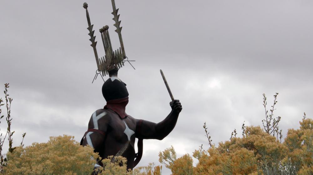
[[[159,161],[173,175],[313,175],[313,120],[303,119],[300,129],[289,129],[284,143],[259,126],[250,126],[242,138],[233,137],[207,151],[195,150],[195,167],[188,156],[176,158],[171,147],[159,153]]]

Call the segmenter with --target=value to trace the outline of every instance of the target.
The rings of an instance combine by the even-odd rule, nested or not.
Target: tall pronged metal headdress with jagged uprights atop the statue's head
[[[88,35],[90,36],[89,40],[91,41],[90,46],[94,49],[95,59],[96,59],[97,68],[98,68],[96,71],[96,75],[99,73],[102,73],[102,76],[105,76],[105,75],[110,76],[111,74],[115,74],[115,73],[117,73],[119,68],[124,66],[124,63],[126,61],[128,63],[130,63],[130,61],[128,60],[128,58],[126,57],[126,54],[125,54],[125,48],[124,48],[124,43],[123,43],[122,34],[121,34],[122,27],[120,27],[121,21],[119,21],[120,15],[117,14],[119,9],[115,8],[114,0],[111,0],[111,1],[112,1],[112,7],[113,7],[112,14],[114,15],[113,20],[115,21],[114,26],[116,27],[115,32],[117,32],[117,34],[118,34],[121,47],[119,49],[113,51],[110,36],[109,36],[109,31],[108,31],[109,26],[106,25],[106,26],[100,28],[99,31],[101,33],[103,47],[105,50],[105,56],[101,57],[101,58],[98,57],[98,53],[97,53],[97,49],[96,49],[97,42],[95,41],[95,36],[94,36],[95,31],[92,30],[94,25],[91,25],[91,22],[90,22],[90,17],[89,17],[89,13],[88,13],[88,9],[87,9],[88,4],[86,2],[83,4],[83,7],[86,9],[86,16],[87,16],[87,22],[88,22],[88,28],[87,29],[89,31]],[[96,78],[96,76],[95,76],[95,78]]]

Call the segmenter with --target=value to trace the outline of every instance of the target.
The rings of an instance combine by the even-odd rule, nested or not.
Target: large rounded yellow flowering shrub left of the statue
[[[73,136],[50,137],[47,143],[17,147],[7,154],[5,174],[88,174],[98,157],[91,147],[82,147]]]

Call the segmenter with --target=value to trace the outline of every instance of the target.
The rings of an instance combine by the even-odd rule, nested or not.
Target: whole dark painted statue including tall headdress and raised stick
[[[95,37],[92,31],[93,25],[90,23],[89,13],[87,10],[87,3],[83,7],[86,9],[88,30],[92,42],[91,46],[94,49],[97,71],[95,78],[100,76],[109,75],[109,78],[102,86],[102,95],[107,104],[103,109],[96,110],[90,118],[88,130],[81,140],[81,145],[90,145],[99,153],[101,158],[108,156],[123,156],[127,159],[127,169],[133,169],[140,161],[143,150],[143,139],[158,139],[165,138],[175,127],[179,113],[182,111],[182,105],[179,100],[174,100],[172,93],[168,87],[164,74],[161,71],[162,78],[167,87],[172,101],[170,102],[171,112],[168,116],[159,123],[153,123],[146,120],[136,119],[128,115],[126,105],[128,104],[128,91],[126,84],[117,77],[119,68],[121,68],[127,61],[130,63],[125,54],[123,40],[121,37],[121,28],[117,15],[118,9],[115,9],[115,2],[112,1],[115,20],[114,26],[117,28],[115,32],[118,33],[121,47],[113,52],[110,37],[108,33],[108,26],[100,29],[101,38],[105,49],[105,57],[98,58],[96,51]],[[131,65],[132,66],[132,65]],[[102,73],[102,75],[101,75]],[[94,80],[95,80],[94,78]],[[102,77],[103,79],[103,77]],[[135,138],[138,138],[138,153],[135,153]],[[111,162],[115,161],[112,158]],[[135,159],[136,158],[136,159]],[[97,160],[95,164],[95,171],[93,174],[98,173],[98,168],[103,167],[101,160]]]

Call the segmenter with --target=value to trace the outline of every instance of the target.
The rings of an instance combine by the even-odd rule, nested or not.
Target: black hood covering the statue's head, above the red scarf
[[[126,84],[117,77],[110,77],[103,83],[102,95],[105,101],[126,98],[128,97]]]

